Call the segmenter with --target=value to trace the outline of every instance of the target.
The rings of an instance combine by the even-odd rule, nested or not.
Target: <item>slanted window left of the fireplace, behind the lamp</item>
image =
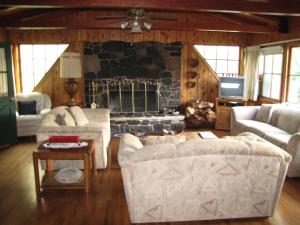
[[[20,45],[24,93],[33,90],[67,47],[68,44]]]

